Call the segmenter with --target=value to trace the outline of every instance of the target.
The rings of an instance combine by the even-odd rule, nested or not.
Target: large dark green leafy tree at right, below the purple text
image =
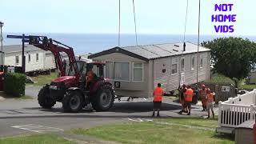
[[[249,39],[216,38],[202,42],[210,48],[214,72],[224,74],[231,79],[246,78],[256,62],[256,45]],[[237,82],[236,82],[237,83]]]

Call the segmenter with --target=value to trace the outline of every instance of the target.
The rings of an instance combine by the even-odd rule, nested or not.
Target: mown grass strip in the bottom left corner
[[[73,144],[55,134],[35,134],[10,138],[0,138],[1,144]]]

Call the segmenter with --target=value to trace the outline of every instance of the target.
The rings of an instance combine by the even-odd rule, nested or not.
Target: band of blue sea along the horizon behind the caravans
[[[13,33],[9,33],[13,34]],[[74,48],[75,54],[96,53],[118,46],[118,34],[34,34],[46,35],[58,42]],[[200,35],[200,42],[210,41],[223,36]],[[240,36],[256,42],[256,36]],[[3,36],[3,45],[22,44],[21,39],[6,38]],[[183,42],[183,35],[171,34],[138,34],[138,45]],[[186,35],[186,42],[198,43],[198,35]],[[120,46],[136,46],[134,34],[121,34]]]

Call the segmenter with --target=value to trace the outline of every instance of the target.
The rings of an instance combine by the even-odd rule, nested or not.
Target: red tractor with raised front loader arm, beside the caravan
[[[50,109],[56,102],[62,102],[65,112],[78,112],[89,103],[96,111],[109,110],[113,106],[114,90],[110,82],[104,79],[105,63],[77,60],[73,48],[51,38],[30,36],[29,43],[42,50],[50,50],[60,72],[60,77],[39,91],[40,106]],[[62,53],[68,56],[68,62],[62,59]],[[66,67],[69,68],[66,70]],[[86,73],[91,68],[94,79],[86,86]]]

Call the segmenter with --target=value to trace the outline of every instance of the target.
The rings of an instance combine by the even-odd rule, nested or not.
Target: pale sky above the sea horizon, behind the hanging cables
[[[214,11],[222,3],[233,3],[233,10]],[[184,33],[186,0],[134,4],[138,34]],[[200,34],[217,34],[214,25],[234,25],[234,35],[255,35],[254,6],[255,0],[201,0]],[[212,14],[237,14],[236,22],[211,22]],[[1,0],[0,21],[6,33],[116,34],[118,0]],[[121,0],[121,33],[134,34],[132,0]],[[198,34],[198,0],[189,0],[186,34]]]

